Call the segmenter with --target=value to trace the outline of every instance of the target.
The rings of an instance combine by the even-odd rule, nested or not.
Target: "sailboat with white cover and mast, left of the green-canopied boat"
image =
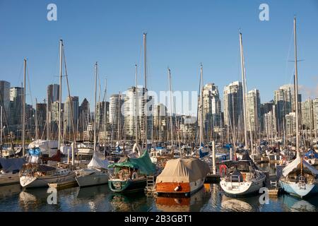
[[[96,105],[96,85],[97,85],[97,71],[98,63],[95,64],[95,114],[97,110]],[[95,117],[96,119],[96,117]],[[100,160],[96,154],[96,120],[94,121],[94,155],[87,169],[80,169],[76,172],[76,181],[80,187],[95,186],[99,184],[107,184],[108,174],[108,160]]]

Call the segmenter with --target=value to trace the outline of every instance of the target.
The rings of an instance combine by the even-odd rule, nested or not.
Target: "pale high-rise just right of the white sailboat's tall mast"
[[[247,131],[259,132],[261,121],[261,99],[259,90],[250,90],[247,93]],[[249,125],[249,122],[251,123]]]

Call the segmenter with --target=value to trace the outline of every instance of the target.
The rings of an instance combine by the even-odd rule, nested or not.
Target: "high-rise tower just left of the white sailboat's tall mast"
[[[239,119],[242,121],[243,89],[242,83],[235,81],[225,86],[223,90],[224,124],[237,128]]]

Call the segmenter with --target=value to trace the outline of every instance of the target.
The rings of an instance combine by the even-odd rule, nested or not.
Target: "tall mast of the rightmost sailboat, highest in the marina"
[[[294,45],[295,45],[295,107],[296,107],[296,152],[300,157],[299,151],[299,119],[298,119],[298,67],[297,67],[297,39],[296,39],[296,18],[294,18]]]

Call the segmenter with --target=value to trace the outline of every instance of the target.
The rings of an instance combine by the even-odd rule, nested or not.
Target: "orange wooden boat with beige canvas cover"
[[[208,172],[208,164],[195,157],[168,160],[155,181],[155,191],[158,195],[189,196],[204,186]]]

